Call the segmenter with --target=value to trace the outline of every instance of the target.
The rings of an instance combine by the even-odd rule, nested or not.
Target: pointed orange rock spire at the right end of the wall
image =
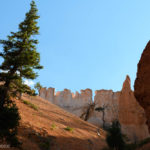
[[[137,102],[130,86],[130,78],[126,77],[119,97],[118,120],[122,132],[132,141],[149,137],[144,109]]]

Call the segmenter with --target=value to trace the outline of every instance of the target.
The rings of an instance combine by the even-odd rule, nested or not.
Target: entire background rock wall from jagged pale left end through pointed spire
[[[95,91],[94,102],[90,89],[81,90],[81,93],[76,92],[76,94],[64,89],[55,94],[53,88],[48,90],[43,88],[40,90],[40,96],[99,127],[107,127],[117,119],[122,132],[131,141],[149,137],[144,109],[134,97],[128,76],[120,92]]]

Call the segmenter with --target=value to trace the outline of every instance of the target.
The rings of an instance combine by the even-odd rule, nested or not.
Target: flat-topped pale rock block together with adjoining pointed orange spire
[[[101,127],[111,125],[119,120],[122,132],[131,141],[139,141],[149,137],[144,109],[136,101],[130,86],[130,78],[126,77],[120,92],[98,90],[95,92],[95,109],[88,122]]]

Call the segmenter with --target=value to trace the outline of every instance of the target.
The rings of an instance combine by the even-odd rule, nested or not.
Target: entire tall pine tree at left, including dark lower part
[[[3,82],[0,85],[0,138],[13,146],[17,144],[20,116],[11,96],[16,97],[18,92],[29,90],[23,80],[35,79],[35,69],[42,69],[40,54],[36,51],[38,40],[35,39],[35,35],[39,34],[38,10],[34,1],[30,6],[25,20],[19,24],[18,32],[11,32],[7,40],[0,40],[3,45],[3,51],[0,52],[3,58],[0,65],[0,82]]]

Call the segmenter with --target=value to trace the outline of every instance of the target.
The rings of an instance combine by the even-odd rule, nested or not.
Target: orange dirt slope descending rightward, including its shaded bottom
[[[21,114],[19,139],[23,150],[101,150],[106,146],[105,133],[52,103],[40,98],[24,95],[38,107],[30,108],[16,100]],[[70,130],[65,130],[66,127]]]

